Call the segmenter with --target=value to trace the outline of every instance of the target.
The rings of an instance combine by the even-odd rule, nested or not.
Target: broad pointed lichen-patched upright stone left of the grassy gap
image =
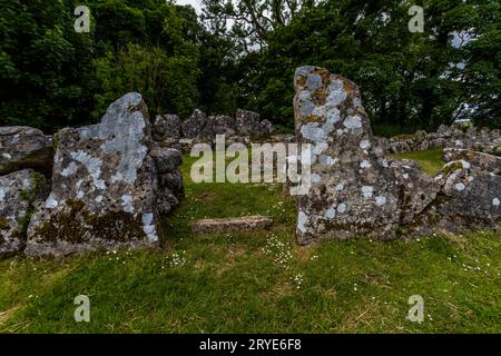
[[[52,191],[31,218],[26,254],[156,246],[158,217],[177,204],[176,185],[161,178],[178,175],[180,160],[154,146],[138,93],[114,102],[98,125],[61,130]]]

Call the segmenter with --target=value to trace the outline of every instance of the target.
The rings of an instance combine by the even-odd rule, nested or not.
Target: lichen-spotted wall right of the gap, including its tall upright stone
[[[313,147],[303,152],[311,155],[313,186],[297,199],[299,244],[499,227],[501,177],[482,168],[498,165],[456,151],[430,177],[413,161],[385,156],[352,81],[307,66],[296,70],[294,86],[296,137]]]

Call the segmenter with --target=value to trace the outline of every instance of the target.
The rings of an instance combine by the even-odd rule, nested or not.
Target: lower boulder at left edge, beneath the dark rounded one
[[[30,215],[46,192],[45,177],[31,169],[0,177],[0,258],[22,251]]]

